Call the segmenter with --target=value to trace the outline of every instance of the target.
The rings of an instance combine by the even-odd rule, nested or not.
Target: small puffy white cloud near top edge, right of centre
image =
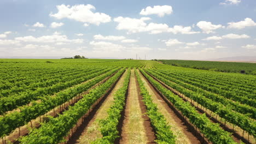
[[[165,14],[171,14],[172,13],[172,7],[170,5],[155,5],[152,7],[147,7],[146,9],[141,10],[141,15],[153,15],[156,14],[159,17],[165,16]]]

